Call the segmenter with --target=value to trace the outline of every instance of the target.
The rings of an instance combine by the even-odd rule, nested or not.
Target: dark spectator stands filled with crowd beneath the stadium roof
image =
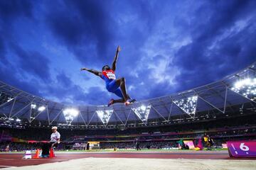
[[[101,149],[134,148],[136,140],[141,148],[173,148],[178,147],[180,139],[196,140],[206,133],[213,137],[216,147],[220,147],[228,140],[255,140],[256,123],[254,117],[230,118],[202,123],[187,123],[177,125],[164,125],[158,127],[127,128],[125,130],[68,130],[58,128],[60,132],[60,145],[57,149],[85,149],[87,141],[100,142]],[[36,149],[41,144],[28,142],[11,142],[3,140],[8,135],[22,140],[50,140],[50,128],[0,128],[0,151],[22,151]]]

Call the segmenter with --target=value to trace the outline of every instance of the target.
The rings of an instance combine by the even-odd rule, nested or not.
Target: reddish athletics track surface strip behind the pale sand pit
[[[22,159],[23,154],[1,153],[0,168],[65,162],[82,158],[138,158],[138,159],[230,159],[226,151],[210,152],[57,152],[55,158]]]

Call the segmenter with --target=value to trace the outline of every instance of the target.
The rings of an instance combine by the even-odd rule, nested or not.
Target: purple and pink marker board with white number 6
[[[256,157],[256,140],[228,141],[230,157]]]

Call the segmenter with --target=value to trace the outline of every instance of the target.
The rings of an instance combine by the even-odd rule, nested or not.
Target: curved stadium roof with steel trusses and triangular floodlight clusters
[[[1,123],[78,125],[85,128],[112,125],[154,125],[181,120],[216,118],[255,108],[256,62],[219,81],[169,96],[138,101],[131,106],[68,106],[48,101],[0,81]],[[240,110],[238,110],[238,108]]]

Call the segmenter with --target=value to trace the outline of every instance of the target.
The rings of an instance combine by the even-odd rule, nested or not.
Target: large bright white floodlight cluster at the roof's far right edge
[[[252,101],[256,101],[256,78],[236,81],[231,90],[250,98]]]

